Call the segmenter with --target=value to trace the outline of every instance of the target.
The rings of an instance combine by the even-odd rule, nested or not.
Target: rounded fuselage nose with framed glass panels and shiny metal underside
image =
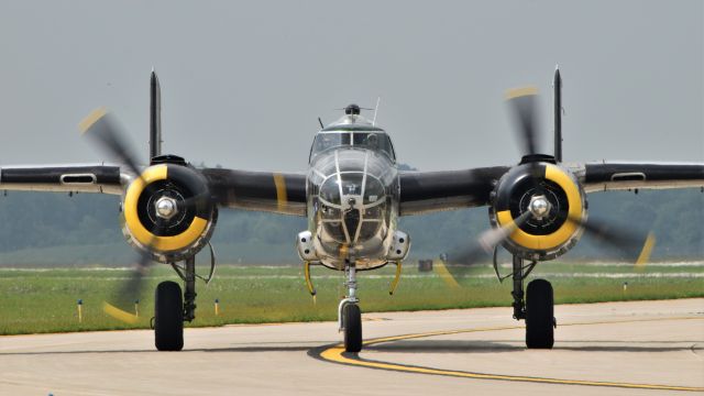
[[[388,262],[398,217],[398,172],[385,154],[340,147],[315,157],[308,173],[308,229],[321,264],[359,270]]]

